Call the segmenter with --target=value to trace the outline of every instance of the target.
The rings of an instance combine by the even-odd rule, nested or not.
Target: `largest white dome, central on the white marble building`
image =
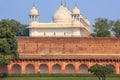
[[[64,6],[60,6],[60,8],[55,12],[53,16],[53,22],[55,23],[71,23],[72,16],[71,12]]]

